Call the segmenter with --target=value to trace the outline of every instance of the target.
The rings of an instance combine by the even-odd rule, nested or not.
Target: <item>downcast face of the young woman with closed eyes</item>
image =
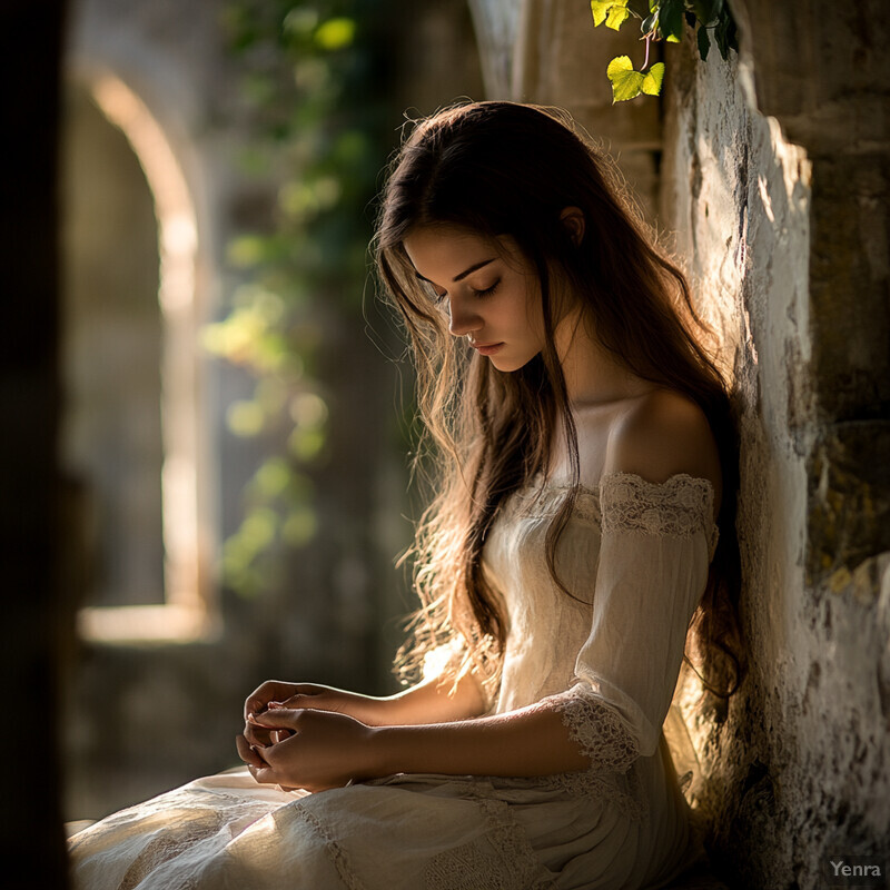
[[[417,277],[498,370],[517,370],[544,348],[541,284],[513,238],[496,241],[458,228],[421,228],[405,238]]]

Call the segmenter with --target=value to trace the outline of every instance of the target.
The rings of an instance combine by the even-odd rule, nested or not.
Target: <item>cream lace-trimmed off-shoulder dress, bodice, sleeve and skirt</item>
[[[498,713],[557,709],[585,772],[395,775],[318,794],[199,779],[75,835],[79,890],[656,888],[699,852],[662,723],[716,543],[702,478],[583,490],[550,577],[565,488],[504,505],[485,568],[510,614]]]

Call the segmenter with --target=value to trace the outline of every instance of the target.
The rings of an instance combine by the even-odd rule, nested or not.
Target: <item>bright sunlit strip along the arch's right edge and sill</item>
[[[79,630],[93,640],[186,641],[209,632],[198,511],[195,207],[181,167],[145,103],[119,79],[92,85],[96,103],[126,136],[155,199],[164,322],[161,418],[166,605],[85,609]]]

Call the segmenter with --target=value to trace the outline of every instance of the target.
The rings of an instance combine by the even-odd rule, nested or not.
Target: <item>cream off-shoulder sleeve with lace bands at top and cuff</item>
[[[716,544],[703,478],[603,478],[600,561],[576,683],[552,696],[593,767],[625,772],[657,748],[690,619]]]

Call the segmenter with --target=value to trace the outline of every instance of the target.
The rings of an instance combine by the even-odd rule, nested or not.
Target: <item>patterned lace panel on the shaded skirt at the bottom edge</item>
[[[461,844],[434,856],[424,869],[425,890],[507,890],[513,887],[528,890],[555,888],[553,881],[541,877],[541,862],[534,854],[523,830],[510,814],[504,801],[476,799],[485,814],[486,838],[497,851],[493,857],[478,841]]]

